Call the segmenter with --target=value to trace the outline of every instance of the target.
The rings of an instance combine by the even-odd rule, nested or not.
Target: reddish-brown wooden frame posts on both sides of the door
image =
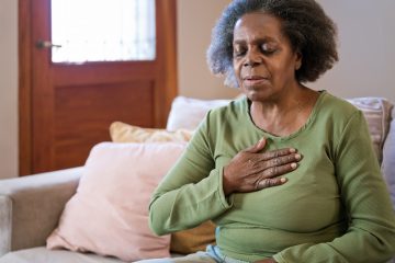
[[[19,41],[19,175],[33,171],[33,61],[32,2],[18,1]],[[160,21],[160,23],[158,23]],[[166,34],[159,28],[166,28]],[[165,127],[171,102],[178,94],[177,87],[177,0],[156,0],[156,34],[165,45],[157,45],[158,60],[163,69],[165,98],[155,98],[158,111],[155,119],[158,127]],[[163,111],[165,110],[165,111]]]

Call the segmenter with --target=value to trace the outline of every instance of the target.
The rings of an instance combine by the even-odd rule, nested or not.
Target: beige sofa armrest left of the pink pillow
[[[44,245],[83,168],[0,180],[0,256]]]

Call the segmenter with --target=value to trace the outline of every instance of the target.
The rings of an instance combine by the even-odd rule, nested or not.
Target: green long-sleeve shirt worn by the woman
[[[281,185],[225,197],[223,168],[240,150],[293,147],[300,167]],[[365,119],[320,92],[296,133],[275,137],[252,123],[246,98],[211,111],[154,193],[150,226],[159,235],[213,219],[230,258],[280,263],[385,262],[395,253],[395,216]]]

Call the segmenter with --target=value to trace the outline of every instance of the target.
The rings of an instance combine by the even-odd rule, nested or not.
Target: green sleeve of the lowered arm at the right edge
[[[395,254],[395,214],[361,112],[342,132],[335,169],[349,219],[347,232],[331,242],[287,248],[273,256],[279,263],[385,262]]]

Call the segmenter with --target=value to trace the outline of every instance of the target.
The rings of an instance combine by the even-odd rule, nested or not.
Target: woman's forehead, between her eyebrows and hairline
[[[242,15],[235,24],[234,39],[270,37],[283,38],[281,20],[264,12],[253,12]]]

